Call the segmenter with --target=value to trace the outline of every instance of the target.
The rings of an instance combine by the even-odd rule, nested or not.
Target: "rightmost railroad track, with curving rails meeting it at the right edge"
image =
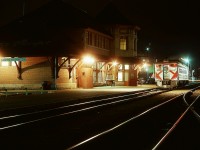
[[[152,150],[157,149],[199,149],[200,134],[200,87],[196,87],[183,95],[186,106],[182,114],[170,129],[158,141]],[[198,90],[196,96],[192,95]]]

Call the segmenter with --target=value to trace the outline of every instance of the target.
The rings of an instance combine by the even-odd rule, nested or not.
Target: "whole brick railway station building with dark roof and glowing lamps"
[[[0,89],[136,86],[140,28],[110,2],[95,17],[55,0],[0,29]]]

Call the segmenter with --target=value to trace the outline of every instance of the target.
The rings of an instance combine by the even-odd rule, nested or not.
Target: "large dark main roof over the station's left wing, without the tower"
[[[92,22],[92,18],[85,11],[62,0],[52,0],[0,29],[0,48],[6,47],[4,52],[1,49],[1,53],[11,56],[17,54],[44,56],[61,53],[61,49],[72,48],[71,45],[65,47],[66,42],[78,45],[73,43],[70,37],[66,38],[67,34],[63,29],[86,28]],[[51,44],[54,45],[54,49],[55,46],[58,46],[58,49],[60,46],[60,52],[58,49],[52,52],[49,49],[52,47]]]

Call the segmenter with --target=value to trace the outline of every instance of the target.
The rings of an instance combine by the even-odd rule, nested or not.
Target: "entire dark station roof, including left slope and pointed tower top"
[[[80,42],[81,30],[89,27],[109,35],[109,32],[99,25],[116,23],[132,24],[112,2],[94,18],[67,2],[52,0],[0,28],[0,55],[5,57],[80,55],[84,48]],[[79,37],[73,34],[69,36],[73,29]]]

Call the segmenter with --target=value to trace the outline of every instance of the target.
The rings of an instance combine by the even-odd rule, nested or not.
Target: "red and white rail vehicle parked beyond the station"
[[[155,63],[154,75],[158,87],[174,88],[189,82],[188,66],[176,61]]]

